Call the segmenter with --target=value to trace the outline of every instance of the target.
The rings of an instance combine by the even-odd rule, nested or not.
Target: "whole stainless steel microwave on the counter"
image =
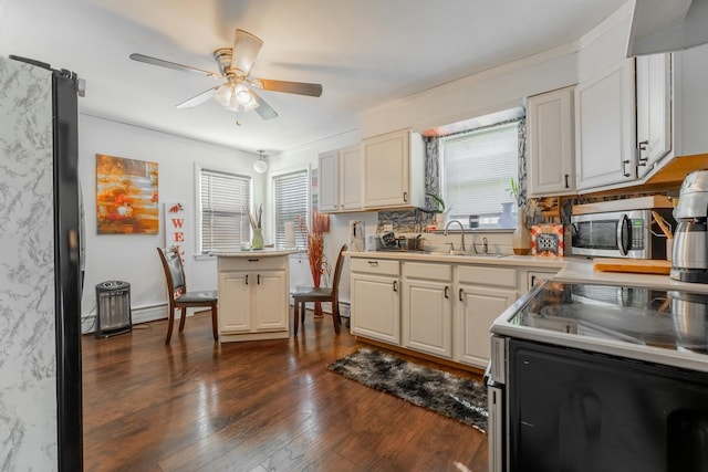
[[[675,225],[671,209],[658,208]],[[613,211],[571,217],[571,253],[601,258],[666,259],[666,237],[653,228],[652,210]]]

